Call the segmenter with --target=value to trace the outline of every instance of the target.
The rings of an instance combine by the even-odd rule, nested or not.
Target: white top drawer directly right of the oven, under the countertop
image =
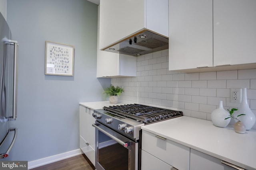
[[[155,134],[142,130],[142,150],[145,150],[178,170],[189,169],[189,147],[168,139],[160,139]]]

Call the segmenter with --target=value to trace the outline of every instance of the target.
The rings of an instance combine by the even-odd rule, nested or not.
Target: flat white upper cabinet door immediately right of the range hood
[[[212,0],[169,0],[169,70],[213,66]]]

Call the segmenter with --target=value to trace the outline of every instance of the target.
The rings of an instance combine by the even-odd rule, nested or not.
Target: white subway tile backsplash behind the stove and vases
[[[186,116],[211,120],[220,100],[224,109],[240,105],[230,102],[230,88],[247,88],[248,103],[256,114],[256,69],[182,73],[168,70],[168,62],[168,49],[137,57],[136,77],[111,80],[114,86],[124,87],[120,102],[180,110]]]

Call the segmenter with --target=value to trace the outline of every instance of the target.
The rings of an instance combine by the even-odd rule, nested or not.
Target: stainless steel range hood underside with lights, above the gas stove
[[[102,50],[125,55],[140,56],[168,49],[168,46],[168,38],[144,30]]]

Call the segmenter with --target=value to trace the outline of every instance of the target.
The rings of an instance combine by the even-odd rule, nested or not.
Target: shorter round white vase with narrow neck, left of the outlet
[[[212,123],[218,127],[226,127],[230,123],[230,119],[226,119],[230,114],[223,108],[223,103],[220,101],[219,108],[211,113]]]

